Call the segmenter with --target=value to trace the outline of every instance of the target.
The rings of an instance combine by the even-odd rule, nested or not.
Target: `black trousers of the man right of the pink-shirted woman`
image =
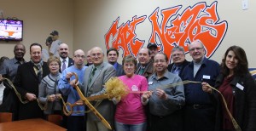
[[[175,111],[167,116],[149,115],[150,131],[182,131],[183,130],[183,116],[182,110]]]

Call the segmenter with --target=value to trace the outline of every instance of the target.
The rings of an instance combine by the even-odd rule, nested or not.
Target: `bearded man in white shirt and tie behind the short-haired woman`
[[[68,49],[67,43],[61,43],[58,48],[58,52],[61,60],[60,72],[62,72],[65,69],[67,69],[67,67],[70,67],[73,65],[73,59],[68,57],[69,49]]]

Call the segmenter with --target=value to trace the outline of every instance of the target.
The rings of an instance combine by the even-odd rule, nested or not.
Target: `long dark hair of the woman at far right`
[[[248,61],[247,61],[247,54],[245,51],[239,47],[239,46],[231,46],[230,48],[227,49],[227,51],[224,54],[224,59],[222,60],[221,63],[221,71],[224,74],[224,76],[228,76],[230,74],[230,70],[225,64],[226,57],[230,51],[233,51],[234,54],[236,55],[236,59],[238,60],[238,63],[234,69],[234,75],[237,76],[244,76],[246,75],[248,71]]]

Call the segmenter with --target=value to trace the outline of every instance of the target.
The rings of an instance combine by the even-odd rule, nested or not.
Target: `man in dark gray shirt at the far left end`
[[[15,58],[11,60],[5,60],[3,65],[0,67],[0,74],[3,77],[9,78],[12,83],[15,81],[15,76],[17,73],[18,66],[25,63],[24,55],[26,54],[26,48],[22,43],[18,43],[14,48]],[[14,120],[18,119],[17,109],[18,109],[18,99],[16,97],[15,91],[10,88],[8,83],[3,83],[6,88],[3,91],[3,111],[9,111],[14,114]]]

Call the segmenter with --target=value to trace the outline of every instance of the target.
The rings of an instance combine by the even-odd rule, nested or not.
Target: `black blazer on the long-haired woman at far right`
[[[216,80],[215,88],[219,88],[224,81],[224,75],[220,74]],[[251,74],[245,76],[235,76],[230,82],[235,97],[234,118],[241,130],[256,130],[256,83]],[[238,88],[240,86],[240,88]],[[241,90],[241,87],[242,90]],[[213,92],[217,101],[215,131],[223,130],[223,103],[220,95]]]

